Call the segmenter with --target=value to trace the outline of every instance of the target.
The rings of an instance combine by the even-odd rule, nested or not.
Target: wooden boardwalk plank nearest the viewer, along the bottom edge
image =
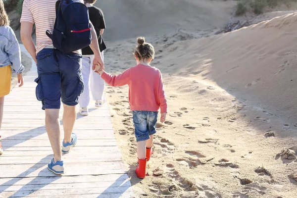
[[[112,187],[112,188],[85,188],[80,189],[63,189],[63,190],[40,190],[36,192],[32,191],[20,191],[20,192],[3,192],[3,196],[9,198],[23,198],[23,197],[50,197],[52,195],[63,195],[63,198],[135,198],[132,195],[133,191],[127,187]],[[56,196],[60,198],[61,196]]]

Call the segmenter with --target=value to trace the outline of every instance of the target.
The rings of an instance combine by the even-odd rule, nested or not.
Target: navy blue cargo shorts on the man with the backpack
[[[36,98],[42,101],[42,109],[59,109],[60,100],[66,105],[75,106],[84,90],[82,55],[42,49],[36,59]]]

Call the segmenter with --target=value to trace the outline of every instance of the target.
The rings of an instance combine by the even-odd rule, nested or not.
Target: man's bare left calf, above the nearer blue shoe
[[[53,151],[53,159],[55,162],[61,161],[59,109],[46,109],[46,128]]]

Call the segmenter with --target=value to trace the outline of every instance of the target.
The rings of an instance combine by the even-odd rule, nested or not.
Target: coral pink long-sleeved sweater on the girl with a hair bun
[[[129,86],[131,110],[158,111],[161,108],[161,113],[167,113],[162,74],[157,68],[139,64],[115,76],[103,72],[101,77],[110,86]]]

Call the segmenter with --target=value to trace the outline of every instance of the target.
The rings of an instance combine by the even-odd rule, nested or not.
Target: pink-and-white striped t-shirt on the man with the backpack
[[[24,0],[23,2],[20,22],[35,24],[37,44],[36,53],[44,49],[46,46],[53,46],[51,39],[46,34],[46,31],[49,30],[50,33],[53,32],[56,16],[55,3],[56,0]],[[75,52],[80,52],[80,50]]]

